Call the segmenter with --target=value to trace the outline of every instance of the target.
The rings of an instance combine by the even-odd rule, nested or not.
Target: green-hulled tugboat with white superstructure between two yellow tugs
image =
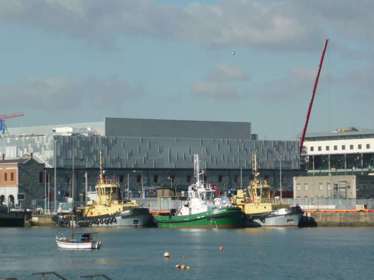
[[[200,180],[199,157],[194,155],[196,182],[188,187],[188,198],[178,211],[158,214],[154,217],[158,227],[240,227],[244,213],[232,207],[229,201],[219,197],[217,187]]]

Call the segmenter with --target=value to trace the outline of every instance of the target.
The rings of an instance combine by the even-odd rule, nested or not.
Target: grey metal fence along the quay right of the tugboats
[[[284,201],[284,200],[283,200]],[[364,205],[365,209],[374,209],[372,199],[341,199],[341,198],[304,198],[286,199],[290,206],[299,205],[302,209],[356,209],[356,205]]]

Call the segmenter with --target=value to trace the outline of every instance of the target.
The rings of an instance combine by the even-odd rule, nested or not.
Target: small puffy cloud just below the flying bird
[[[209,81],[242,81],[248,79],[248,73],[240,67],[224,62],[209,71],[206,79]]]

